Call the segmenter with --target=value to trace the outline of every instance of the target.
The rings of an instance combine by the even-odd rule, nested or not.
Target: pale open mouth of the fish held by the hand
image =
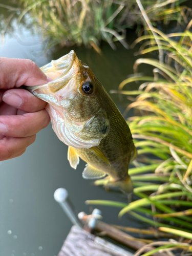
[[[52,93],[59,91],[66,86],[67,82],[74,74],[75,67],[73,68],[73,66],[75,60],[77,60],[78,64],[79,59],[73,50],[57,60],[52,60],[50,63],[41,67],[40,69],[46,74],[47,77],[53,80],[39,86],[25,87],[25,89],[32,93],[37,89],[44,90],[44,88],[49,88]]]

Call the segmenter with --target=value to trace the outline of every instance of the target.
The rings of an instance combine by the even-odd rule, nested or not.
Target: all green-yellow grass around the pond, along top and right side
[[[0,7],[9,9],[10,14],[1,18],[1,33],[11,32],[9,25],[16,19],[17,24],[25,23],[29,27],[33,24],[47,47],[84,45],[98,53],[102,41],[114,50],[116,41],[129,48],[127,29],[133,28],[138,33],[131,48],[139,45],[136,55],[151,53],[153,58],[137,59],[135,74],[111,92],[122,96],[127,105],[132,102],[125,116],[130,109],[135,110],[135,116],[127,119],[138,150],[138,157],[129,169],[135,187],[134,201],[87,203],[119,207],[120,217],[128,214],[150,224],[150,230],[119,228],[141,236],[150,234],[157,251],[164,250],[170,256],[191,255],[192,6],[190,1],[182,0],[142,1],[153,26],[149,29],[137,2],[140,1],[20,0],[19,7],[4,3]],[[167,30],[169,34],[165,34]],[[158,54],[161,61],[157,59]],[[143,64],[154,68],[153,76],[138,73]],[[129,90],[129,84],[135,82],[139,89]],[[102,185],[102,181],[95,184]],[[172,240],[165,239],[167,232],[173,234]],[[136,255],[141,253],[142,250]]]

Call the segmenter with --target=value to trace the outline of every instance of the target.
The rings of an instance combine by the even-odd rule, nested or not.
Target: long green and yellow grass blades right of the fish
[[[137,113],[127,123],[138,150],[134,166],[129,169],[138,199],[129,204],[102,200],[89,200],[87,204],[119,207],[119,217],[133,216],[175,236],[167,242],[159,237],[159,242],[151,244],[157,246],[155,250],[142,254],[141,248],[135,256],[147,256],[155,251],[176,255],[177,249],[183,255],[192,252],[191,25],[192,21],[186,31],[168,35],[153,28],[153,34],[138,38],[133,44],[142,43],[138,54],[160,50],[163,62],[139,58],[134,65],[135,75],[112,91],[131,100],[135,95],[125,114],[132,108]],[[154,67],[154,76],[138,75],[143,64]],[[142,81],[138,91],[129,90],[129,83]]]

